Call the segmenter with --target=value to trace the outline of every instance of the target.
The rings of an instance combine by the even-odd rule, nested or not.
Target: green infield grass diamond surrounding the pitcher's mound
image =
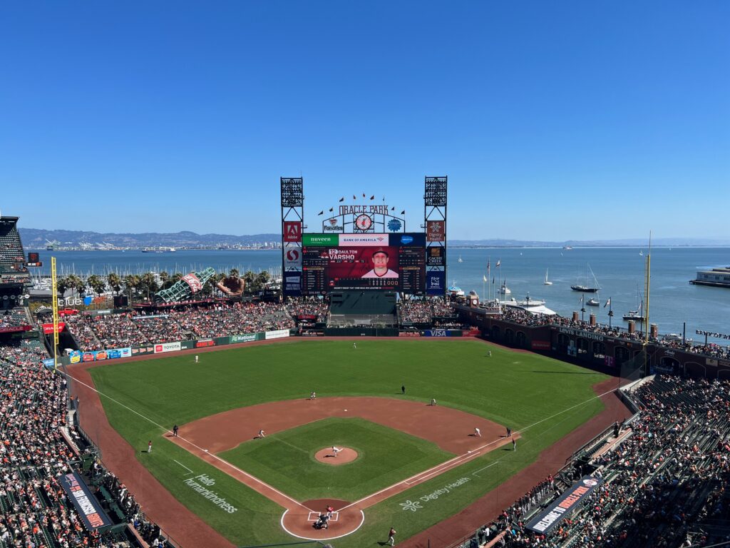
[[[358,459],[337,466],[315,460],[315,452],[332,445],[355,449]],[[298,501],[352,502],[454,455],[430,441],[352,418],[312,422],[247,441],[219,456]]]

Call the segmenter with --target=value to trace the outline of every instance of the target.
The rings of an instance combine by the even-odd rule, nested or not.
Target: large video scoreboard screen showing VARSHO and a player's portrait
[[[422,233],[304,234],[302,294],[337,289],[426,292],[426,237]]]

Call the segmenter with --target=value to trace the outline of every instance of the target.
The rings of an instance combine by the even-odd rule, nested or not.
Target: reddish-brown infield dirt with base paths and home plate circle
[[[457,456],[415,476],[404,478],[359,501],[353,503],[339,501],[338,505],[341,506],[333,504],[338,516],[337,520],[332,520],[328,524],[328,529],[312,527],[312,522],[317,520],[318,512],[322,508],[296,501],[272,485],[217,456],[220,452],[256,438],[259,429],[264,430],[266,435],[272,435],[330,417],[358,417],[376,422],[393,430],[432,441],[441,449],[456,453]],[[254,430],[249,431],[244,430],[241,425],[255,426]],[[479,428],[481,436],[475,435],[475,428]],[[322,397],[315,400],[302,398],[231,409],[181,425],[179,437],[169,439],[283,506],[286,511],[281,525],[288,533],[301,539],[331,540],[358,530],[364,520],[363,510],[369,506],[433,479],[499,446],[511,443],[510,438],[504,437],[504,432],[505,428],[502,425],[450,407],[431,406],[424,402],[395,400],[388,397]],[[320,452],[332,454],[331,447]],[[342,453],[338,457],[323,458],[334,461],[340,457]]]

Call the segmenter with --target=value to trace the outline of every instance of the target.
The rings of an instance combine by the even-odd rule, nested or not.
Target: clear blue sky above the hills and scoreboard
[[[449,237],[728,237],[730,2],[4,2],[0,210],[253,234],[385,196]]]

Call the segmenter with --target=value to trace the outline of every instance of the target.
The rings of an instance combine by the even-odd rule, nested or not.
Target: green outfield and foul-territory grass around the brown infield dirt
[[[488,350],[491,358],[486,357]],[[475,340],[362,340],[357,349],[345,340],[299,340],[205,353],[199,364],[193,363],[191,354],[110,363],[93,368],[91,374],[104,395],[149,419],[101,397],[112,426],[132,446],[143,449],[148,439],[158,439],[155,452],[138,453],[139,460],[180,501],[239,545],[291,541],[278,525],[282,509],[166,441],[156,425],[169,429],[231,408],[307,397],[316,390],[320,397],[367,395],[422,402],[436,397],[441,406],[483,416],[512,430],[528,427],[518,452],[498,449],[367,509],[363,527],[338,539],[337,548],[377,546],[391,525],[402,541],[464,509],[601,411],[591,386],[606,378],[555,359]],[[400,394],[401,384],[407,387],[405,396]],[[566,409],[570,411],[562,412]],[[552,418],[543,421],[548,417]],[[237,511],[223,512],[183,484],[186,471],[175,460],[215,479],[215,490]],[[558,468],[561,463],[554,465]],[[461,478],[468,481],[447,495],[428,497]],[[499,492],[494,495],[499,497]],[[420,507],[404,510],[408,501],[421,501]],[[504,501],[504,506],[512,502]]]

